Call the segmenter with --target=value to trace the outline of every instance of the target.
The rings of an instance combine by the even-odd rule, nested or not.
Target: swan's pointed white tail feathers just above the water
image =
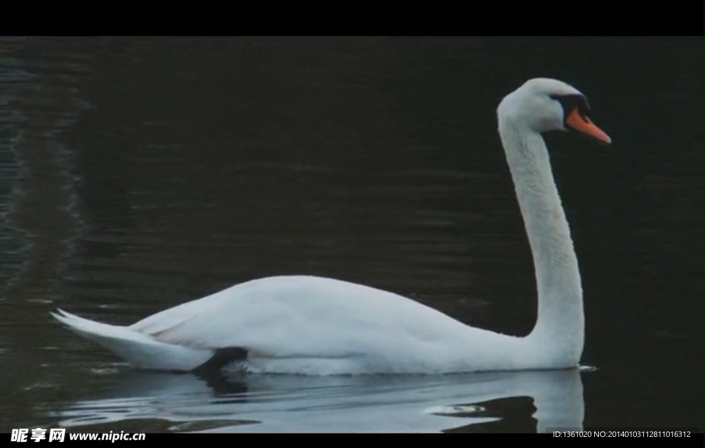
[[[63,310],[51,313],[82,337],[114,351],[130,364],[156,370],[193,370],[214,356],[211,349],[166,344],[128,327],[102,324]]]

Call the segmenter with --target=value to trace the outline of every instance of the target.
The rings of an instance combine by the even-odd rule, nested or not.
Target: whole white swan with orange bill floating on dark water
[[[611,139],[585,96],[534,78],[504,97],[498,131],[532,250],[538,317],[526,337],[470,327],[396,293],[305,275],[236,284],[129,326],[51,313],[137,368],[357,375],[574,368],[584,344],[582,286],[541,133]]]

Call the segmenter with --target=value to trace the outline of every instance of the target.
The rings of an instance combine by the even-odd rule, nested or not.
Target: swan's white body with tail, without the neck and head
[[[539,362],[540,353],[529,356],[532,345],[525,338],[468,327],[397,294],[321,277],[247,281],[130,327],[68,313],[56,317],[142,368],[192,370],[212,358],[213,349],[226,347],[247,349],[247,358],[237,367],[267,373],[565,367],[547,359]],[[167,354],[172,347],[178,351]]]

